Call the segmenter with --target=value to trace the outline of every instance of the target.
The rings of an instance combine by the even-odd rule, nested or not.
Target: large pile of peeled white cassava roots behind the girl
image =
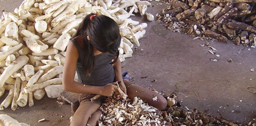
[[[140,0],[24,0],[14,12],[3,12],[0,19],[0,97],[8,95],[0,110],[11,105],[33,106],[33,97],[57,98],[62,91],[65,51],[76,27],[94,13],[106,15],[119,25],[122,37],[119,59],[132,56],[133,44],[145,34],[147,23],[139,24],[130,16],[146,15],[148,1]],[[77,76],[76,76],[77,77]],[[53,85],[54,84],[54,85]]]

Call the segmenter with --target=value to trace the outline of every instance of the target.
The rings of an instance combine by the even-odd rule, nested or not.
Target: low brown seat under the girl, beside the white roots
[[[79,107],[79,101],[78,101],[78,95],[77,93],[73,92],[67,92],[62,91],[59,96],[61,97],[64,104],[70,104],[71,105],[71,111],[75,112],[76,109]]]

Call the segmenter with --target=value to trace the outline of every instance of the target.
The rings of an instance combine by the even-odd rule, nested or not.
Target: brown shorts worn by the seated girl
[[[125,84],[125,86],[128,87],[130,84],[134,84],[134,83],[132,82],[127,83]],[[78,100],[79,100],[80,106],[87,103],[96,103],[101,106],[101,104],[104,103],[105,99],[108,98],[106,96],[101,96],[97,100],[91,101],[91,98],[93,98],[94,96],[96,96],[96,94],[79,94]]]

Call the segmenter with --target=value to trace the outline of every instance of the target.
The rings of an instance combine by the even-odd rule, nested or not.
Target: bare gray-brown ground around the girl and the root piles
[[[2,0],[0,9],[13,11],[21,2]],[[165,4],[152,3],[147,12],[153,15],[166,7]],[[145,17],[133,19],[147,22]],[[147,24],[146,34],[140,40],[141,46],[135,47],[133,56],[122,63],[123,71],[129,70],[134,82],[166,93],[175,92],[189,109],[208,110],[211,115],[223,116],[234,122],[248,123],[256,118],[255,94],[246,91],[246,87],[255,85],[256,81],[256,72],[250,71],[256,68],[255,49],[248,51],[246,47],[238,54],[242,46],[209,41],[210,46],[218,50],[216,54],[220,57],[216,57],[208,52],[208,47],[200,46],[205,41],[170,32],[157,21]],[[214,58],[218,61],[211,61]],[[227,61],[230,58],[233,60],[231,63]],[[56,101],[45,96],[42,100],[34,100],[33,107],[19,107],[16,111],[8,108],[0,114],[8,114],[32,126],[69,125],[69,117],[73,114],[70,105],[60,105]],[[42,118],[47,120],[38,123]]]

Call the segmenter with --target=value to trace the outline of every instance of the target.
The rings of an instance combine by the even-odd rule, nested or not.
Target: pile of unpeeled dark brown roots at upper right
[[[163,0],[158,14],[171,31],[214,38],[237,45],[256,45],[255,0]]]

